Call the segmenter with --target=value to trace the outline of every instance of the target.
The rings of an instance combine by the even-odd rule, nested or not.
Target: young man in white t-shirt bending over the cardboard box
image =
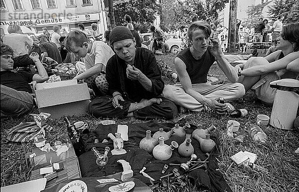
[[[74,79],[84,80],[96,96],[107,95],[108,85],[105,78],[107,61],[114,55],[113,50],[103,41],[91,42],[85,33],[79,30],[71,31],[65,39],[65,48],[84,58],[85,66],[81,62],[76,63],[76,68],[86,68],[86,71],[77,75]]]

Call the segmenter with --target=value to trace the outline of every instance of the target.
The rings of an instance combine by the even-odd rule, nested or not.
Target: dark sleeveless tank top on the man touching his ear
[[[215,61],[215,57],[209,51],[206,51],[200,59],[195,59],[188,47],[179,52],[176,57],[185,63],[191,84],[207,82],[208,72]]]

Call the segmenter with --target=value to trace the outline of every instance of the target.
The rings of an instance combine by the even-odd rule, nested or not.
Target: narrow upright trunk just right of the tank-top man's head
[[[229,22],[228,22],[228,47],[227,47],[229,53],[234,52],[236,48],[237,5],[238,5],[238,0],[230,0]]]

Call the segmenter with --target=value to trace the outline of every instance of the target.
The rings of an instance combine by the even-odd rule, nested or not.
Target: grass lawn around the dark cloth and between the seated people
[[[163,59],[172,69],[174,55],[157,56]],[[209,74],[221,80],[224,74],[218,65],[213,65]],[[167,78],[163,78],[165,84],[171,84]],[[246,108],[248,115],[238,118],[241,123],[240,129],[244,130],[246,122],[255,123],[258,114],[271,115],[272,107],[261,104],[256,100],[252,91],[244,96],[243,101],[231,102],[236,108]],[[38,111],[33,111],[37,113]],[[222,131],[226,128],[228,116],[220,116],[212,111],[192,112],[187,122],[192,124],[202,124],[204,128],[214,124],[217,129],[212,133],[220,140],[218,149],[219,170],[228,182],[234,192],[298,192],[299,191],[299,154],[295,150],[299,147],[299,134],[295,131],[285,131],[273,127],[261,126],[268,136],[265,144],[256,144],[253,142],[248,132],[245,133],[244,142],[236,142],[221,137]],[[90,130],[94,130],[98,122],[104,118],[95,118],[86,114],[85,116],[73,116],[71,121],[85,121],[89,124]],[[145,122],[135,118],[114,119],[118,124]],[[25,182],[30,180],[30,166],[25,160],[25,153],[30,151],[32,143],[8,143],[3,139],[9,129],[24,121],[32,121],[29,115],[16,119],[1,120],[1,187]],[[157,119],[158,122],[165,122],[163,119]],[[54,127],[53,131],[46,133],[47,141],[51,145],[56,140],[66,140],[66,125],[62,119],[50,121]],[[249,151],[258,155],[256,164],[268,169],[268,173],[252,170],[246,167],[237,166],[230,157],[239,151]],[[177,191],[171,187],[160,189],[159,191]],[[155,190],[157,191],[157,189]],[[180,190],[181,191],[181,190]],[[194,188],[185,188],[185,192],[196,191]]]

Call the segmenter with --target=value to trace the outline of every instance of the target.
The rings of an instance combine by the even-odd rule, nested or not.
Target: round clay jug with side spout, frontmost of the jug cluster
[[[152,155],[157,160],[167,160],[171,157],[172,151],[178,147],[177,142],[172,141],[171,145],[164,144],[164,137],[159,137],[159,144],[152,150]]]

